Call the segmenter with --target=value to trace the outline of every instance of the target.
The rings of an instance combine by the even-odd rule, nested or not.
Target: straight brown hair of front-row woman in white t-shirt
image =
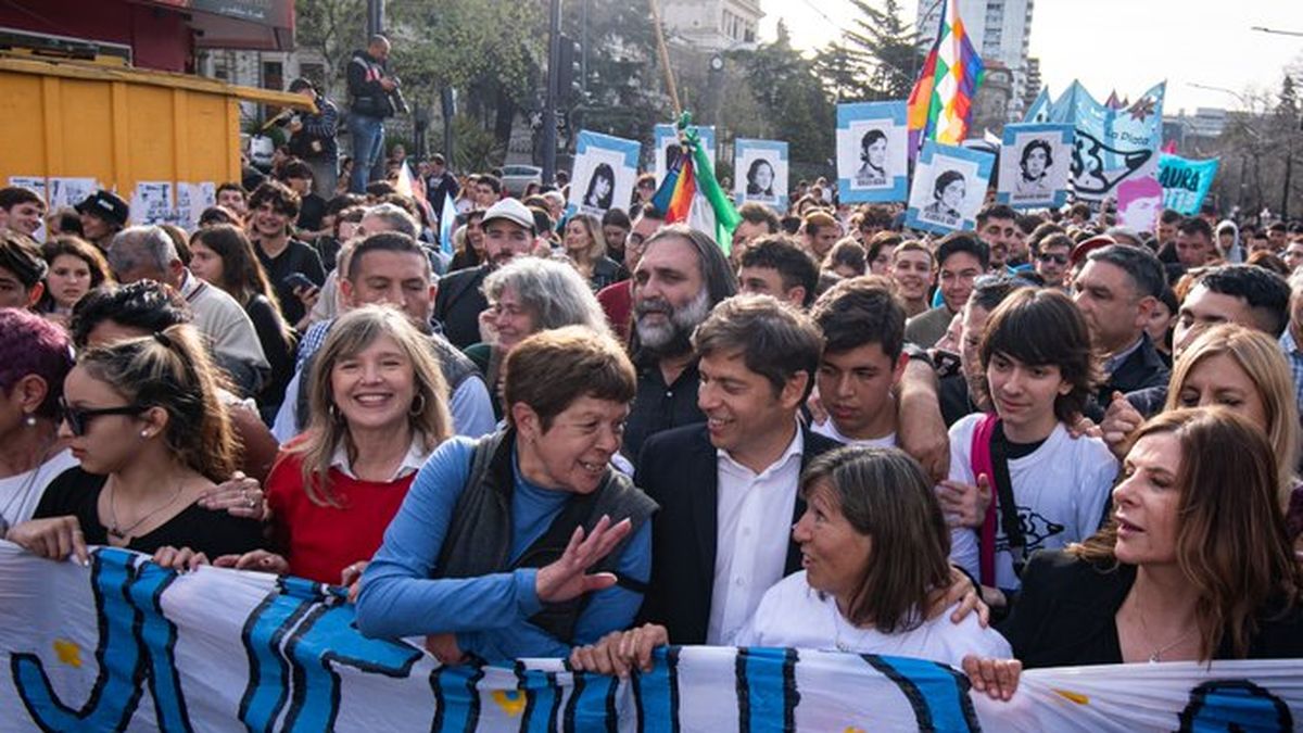
[[[923,467],[894,447],[843,447],[810,463],[801,496],[827,490],[851,527],[872,539],[847,620],[883,634],[923,625],[950,586],[950,530]]]

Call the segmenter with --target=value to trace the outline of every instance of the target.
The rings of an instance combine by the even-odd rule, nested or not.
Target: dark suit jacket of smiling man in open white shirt
[[[805,426],[801,434],[801,471],[820,454],[840,447]],[[661,505],[652,520],[652,583],[638,617],[663,623],[675,644],[704,644],[719,531],[719,464],[706,426],[688,425],[649,437],[633,483]],[[792,523],[804,513],[805,502],[797,496]],[[800,570],[801,554],[791,532],[774,541],[787,544],[783,574]]]

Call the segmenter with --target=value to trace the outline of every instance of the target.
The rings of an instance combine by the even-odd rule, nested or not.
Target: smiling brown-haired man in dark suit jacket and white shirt
[[[692,342],[706,424],[648,438],[635,476],[661,505],[641,617],[678,644],[728,644],[765,591],[800,569],[800,473],[837,443],[797,421],[822,348],[808,316],[737,296]]]

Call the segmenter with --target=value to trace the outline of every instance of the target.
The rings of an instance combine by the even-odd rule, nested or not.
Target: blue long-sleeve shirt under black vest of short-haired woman
[[[490,661],[556,657],[569,646],[529,623],[542,609],[536,569],[478,578],[431,579],[457,498],[470,476],[474,441],[444,441],[403,501],[384,543],[362,575],[357,626],[367,636],[417,636],[453,631],[457,646]],[[569,492],[546,489],[521,476],[512,453],[511,560],[515,561],[556,518]],[[618,571],[645,583],[652,575],[652,523],[625,545]],[[589,644],[633,622],[642,595],[611,587],[593,595],[575,627],[575,642]]]

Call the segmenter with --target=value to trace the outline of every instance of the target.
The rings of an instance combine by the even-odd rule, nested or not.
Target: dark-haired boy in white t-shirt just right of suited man
[[[816,385],[827,417],[816,433],[844,445],[896,447],[894,390],[909,357],[904,353],[904,304],[886,279],[843,280],[810,310],[823,331]],[[954,527],[950,556],[968,569],[977,557],[977,536]]]

